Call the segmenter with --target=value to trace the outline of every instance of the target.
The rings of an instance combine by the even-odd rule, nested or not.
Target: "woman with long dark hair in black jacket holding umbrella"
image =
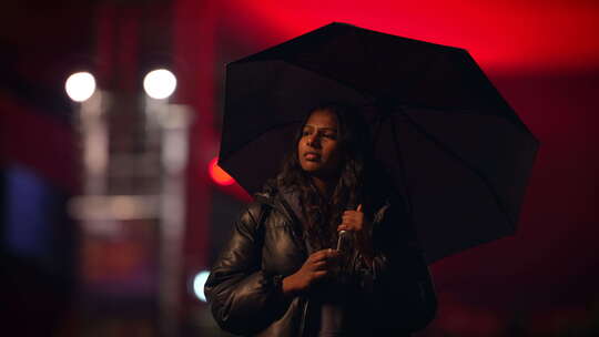
[[[436,296],[404,203],[369,157],[367,126],[313,110],[283,171],[256,194],[205,293],[219,325],[255,336],[409,336]],[[351,249],[336,247],[353,234]]]

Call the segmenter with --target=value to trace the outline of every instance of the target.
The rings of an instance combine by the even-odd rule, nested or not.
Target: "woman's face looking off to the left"
[[[302,130],[297,155],[302,168],[318,176],[333,176],[339,170],[337,118],[328,110],[316,110]]]

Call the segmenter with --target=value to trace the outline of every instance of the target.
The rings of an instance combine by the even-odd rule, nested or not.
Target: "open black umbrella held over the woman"
[[[467,51],[332,23],[227,64],[219,164],[250,193],[323,102],[367,114],[429,263],[516,231],[538,141]]]

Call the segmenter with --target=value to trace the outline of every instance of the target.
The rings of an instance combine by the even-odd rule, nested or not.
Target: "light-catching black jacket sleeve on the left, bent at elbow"
[[[216,323],[233,334],[264,329],[285,307],[281,277],[261,269],[262,207],[252,203],[242,213],[204,287]]]

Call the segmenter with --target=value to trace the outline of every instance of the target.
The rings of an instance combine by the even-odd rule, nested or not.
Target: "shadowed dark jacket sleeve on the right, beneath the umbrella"
[[[405,213],[393,206],[384,213],[373,226],[372,264],[358,253],[352,273],[368,298],[377,327],[416,331],[435,318],[437,297]]]

